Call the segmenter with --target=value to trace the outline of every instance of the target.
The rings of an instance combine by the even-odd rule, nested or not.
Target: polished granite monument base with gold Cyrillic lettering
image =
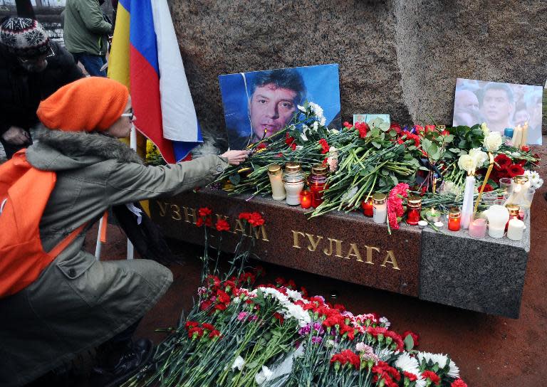
[[[261,260],[338,280],[389,290],[427,301],[504,317],[518,318],[530,248],[530,228],[523,240],[470,238],[466,231],[420,230],[373,223],[362,213],[329,213],[308,220],[300,206],[271,198],[228,196],[205,189],[150,201],[152,219],[165,235],[203,244],[195,226],[200,207],[212,208],[214,221],[226,219],[222,250],[233,252],[239,240],[250,241]],[[258,211],[266,223],[244,226],[241,212]],[[446,222],[444,222],[446,223]],[[211,244],[219,244],[217,230]]]

